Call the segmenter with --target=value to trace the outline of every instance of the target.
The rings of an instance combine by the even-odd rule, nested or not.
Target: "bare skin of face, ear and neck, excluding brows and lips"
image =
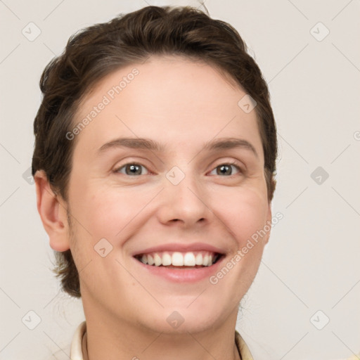
[[[226,252],[225,265],[271,221],[255,110],[243,112],[243,89],[210,65],[153,56],[98,83],[75,123],[134,67],[139,75],[72,140],[68,203],[53,195],[44,172],[35,176],[51,248],[70,248],[79,270],[89,359],[240,359],[238,304],[270,233],[216,285],[208,278],[184,284],[150,276],[131,254],[169,242],[203,242]],[[111,148],[98,155],[120,137],[153,139],[165,150]],[[214,138],[245,139],[257,156],[247,148],[203,150]],[[229,162],[241,170],[217,172]],[[126,167],[116,172],[134,163],[143,165],[140,174]],[[176,186],[166,177],[174,166],[185,174]],[[113,245],[106,257],[94,251],[101,238]],[[173,311],[184,318],[176,329],[166,321]]]

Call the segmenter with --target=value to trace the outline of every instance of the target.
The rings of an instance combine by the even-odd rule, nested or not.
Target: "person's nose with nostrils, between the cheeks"
[[[164,190],[161,191],[158,218],[162,224],[175,224],[177,226],[191,227],[196,224],[205,224],[210,220],[212,212],[207,202],[209,195],[206,189],[191,172],[177,172],[167,174],[164,179]],[[172,177],[172,175],[174,175]],[[179,184],[176,184],[176,176],[184,176]],[[179,180],[179,179],[177,179]]]

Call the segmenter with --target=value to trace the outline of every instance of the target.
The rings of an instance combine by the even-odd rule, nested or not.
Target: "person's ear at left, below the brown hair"
[[[34,174],[34,180],[37,188],[37,211],[49,235],[51,248],[59,252],[70,249],[65,202],[53,193],[44,170],[38,170]]]

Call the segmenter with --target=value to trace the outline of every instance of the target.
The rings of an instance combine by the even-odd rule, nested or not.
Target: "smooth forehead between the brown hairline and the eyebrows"
[[[116,136],[156,139],[165,134],[171,145],[238,135],[251,138],[259,150],[257,116],[239,107],[243,96],[240,86],[206,63],[153,56],[96,84],[79,106],[75,124],[86,117],[91,121],[77,141],[100,147]]]

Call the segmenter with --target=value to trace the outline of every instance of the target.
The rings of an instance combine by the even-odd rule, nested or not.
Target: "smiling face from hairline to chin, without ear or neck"
[[[242,249],[271,220],[243,96],[209,65],[153,57],[86,97],[75,124],[96,115],[72,132],[68,202],[85,312],[164,333],[236,321],[269,233]]]

